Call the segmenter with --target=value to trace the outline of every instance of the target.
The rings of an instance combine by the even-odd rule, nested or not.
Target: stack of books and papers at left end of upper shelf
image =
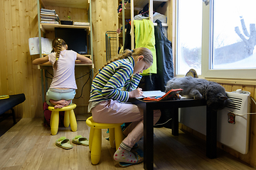
[[[41,23],[60,24],[60,18],[54,9],[41,8],[40,11]]]

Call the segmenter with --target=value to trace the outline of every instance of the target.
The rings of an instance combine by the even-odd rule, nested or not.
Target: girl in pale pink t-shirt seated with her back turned
[[[92,60],[79,55],[73,50],[67,50],[68,45],[61,38],[53,40],[53,52],[46,57],[33,60],[32,64],[52,64],[53,81],[46,93],[46,103],[54,108],[63,108],[72,103],[75,97],[75,64],[90,64]]]

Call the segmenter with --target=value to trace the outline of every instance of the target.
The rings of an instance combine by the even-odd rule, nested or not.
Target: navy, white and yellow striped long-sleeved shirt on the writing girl
[[[110,99],[120,102],[128,101],[128,91],[137,89],[139,81],[142,79],[142,76],[139,74],[132,76],[134,64],[133,57],[128,57],[107,64],[97,74],[92,81],[88,112],[101,101],[108,101]]]

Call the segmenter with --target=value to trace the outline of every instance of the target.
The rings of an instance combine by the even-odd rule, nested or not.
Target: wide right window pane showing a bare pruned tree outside
[[[212,6],[210,69],[256,68],[256,1],[215,0]]]

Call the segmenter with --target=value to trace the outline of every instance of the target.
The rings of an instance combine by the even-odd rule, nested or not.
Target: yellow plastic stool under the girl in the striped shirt
[[[100,162],[100,154],[102,147],[102,129],[109,129],[110,132],[110,145],[112,148],[118,149],[124,135],[122,133],[122,123],[95,123],[92,116],[87,118],[86,124],[90,127],[89,149],[91,152],[92,164]],[[113,141],[115,140],[115,146]]]

